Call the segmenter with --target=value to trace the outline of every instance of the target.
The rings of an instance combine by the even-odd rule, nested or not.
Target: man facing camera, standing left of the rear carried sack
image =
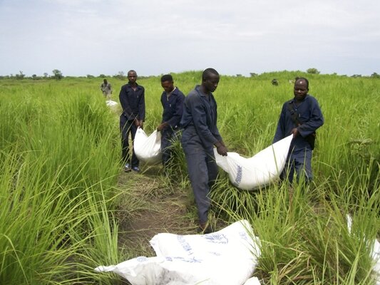
[[[123,162],[125,163],[124,171],[140,172],[135,150],[132,150],[132,158],[130,157],[128,140],[130,135],[133,145],[138,127],[143,128],[145,120],[145,89],[136,83],[137,73],[135,71],[128,71],[127,76],[128,83],[121,86],[119,94],[121,108],[123,108],[123,113],[120,115],[120,133]]]

